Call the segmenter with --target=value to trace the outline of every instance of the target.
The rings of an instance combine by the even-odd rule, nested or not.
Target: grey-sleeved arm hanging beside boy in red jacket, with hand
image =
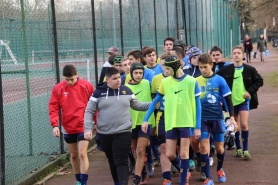
[[[85,139],[92,139],[92,119],[97,110],[97,98],[91,97],[84,115],[84,137]]]

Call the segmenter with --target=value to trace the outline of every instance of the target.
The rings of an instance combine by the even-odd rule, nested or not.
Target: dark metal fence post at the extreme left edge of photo
[[[1,58],[0,58],[0,71],[1,70]],[[5,184],[5,135],[4,135],[4,110],[3,110],[3,86],[2,86],[2,73],[0,73],[0,178],[1,184]]]

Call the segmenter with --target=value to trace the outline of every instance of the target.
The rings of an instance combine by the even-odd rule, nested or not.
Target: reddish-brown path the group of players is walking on
[[[235,150],[226,151],[223,168],[227,175],[226,185],[277,185],[278,184],[278,84],[273,85],[274,79],[270,73],[278,71],[278,49],[270,48],[270,56],[265,62],[253,59],[250,64],[257,68],[264,78],[264,86],[259,90],[259,108],[250,112],[249,119],[249,151],[251,161],[234,157]],[[274,76],[278,78],[278,76]],[[113,185],[107,159],[102,152],[93,150],[89,154],[90,169],[88,185]],[[216,157],[211,173],[215,184],[220,184],[216,176]],[[71,171],[69,169],[69,171]],[[130,176],[130,183],[133,176]],[[161,169],[155,168],[155,174],[149,179],[148,185],[162,184]],[[74,175],[56,176],[46,182],[46,185],[74,184]],[[178,177],[173,177],[173,184],[178,184]],[[194,171],[190,185],[203,184],[199,181],[199,173]]]

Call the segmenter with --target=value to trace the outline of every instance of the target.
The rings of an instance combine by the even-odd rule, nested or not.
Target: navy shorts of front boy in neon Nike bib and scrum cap
[[[194,134],[193,128],[173,128],[167,131],[166,139],[190,138]]]

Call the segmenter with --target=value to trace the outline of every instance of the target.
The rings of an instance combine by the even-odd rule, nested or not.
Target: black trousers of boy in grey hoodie
[[[128,185],[128,153],[131,146],[131,133],[99,134],[100,145],[108,158],[114,182]]]

